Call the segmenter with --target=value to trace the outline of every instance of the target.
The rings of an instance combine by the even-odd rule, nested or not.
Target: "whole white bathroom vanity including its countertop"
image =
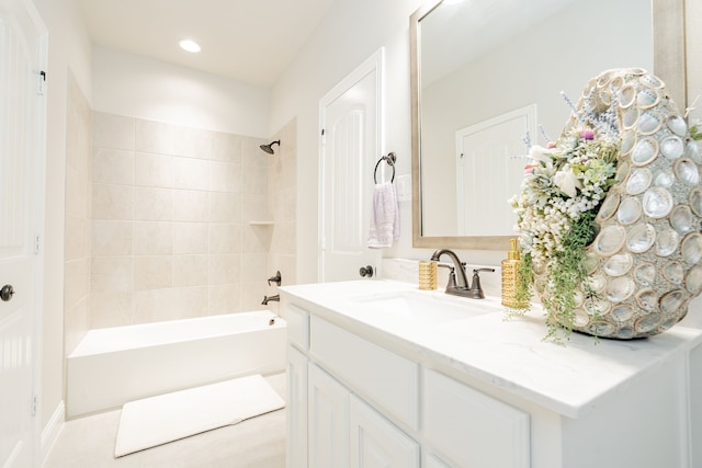
[[[359,283],[347,297],[386,287]],[[287,468],[702,468],[701,331],[558,346],[540,318],[382,328],[343,286],[281,289]]]

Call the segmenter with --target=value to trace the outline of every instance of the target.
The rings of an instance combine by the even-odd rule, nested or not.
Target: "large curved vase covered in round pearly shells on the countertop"
[[[586,248],[589,290],[576,290],[573,330],[635,339],[661,333],[702,292],[702,157],[664,82],[642,69],[590,80],[576,107],[607,110],[620,127],[615,184]],[[575,117],[564,134],[577,125]],[[536,290],[547,295],[543,278]]]

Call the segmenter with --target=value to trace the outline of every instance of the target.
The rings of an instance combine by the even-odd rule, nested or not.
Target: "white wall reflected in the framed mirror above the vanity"
[[[556,139],[570,115],[561,90],[577,102],[587,81],[601,71],[654,70],[652,12],[637,4],[638,0],[570,3],[422,89],[422,147],[430,149],[432,169],[423,179],[422,204],[430,209],[422,220],[430,224],[432,236],[456,231],[456,130],[535,103],[539,124]],[[625,24],[620,24],[621,18],[627,19]],[[593,19],[604,33],[591,34]],[[612,41],[621,35],[626,41]],[[541,135],[531,138],[546,144]],[[519,185],[512,189],[517,193]],[[510,209],[507,199],[501,202]]]

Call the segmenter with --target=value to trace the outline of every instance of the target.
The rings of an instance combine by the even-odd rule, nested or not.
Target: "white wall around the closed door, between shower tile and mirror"
[[[410,173],[409,16],[420,0],[337,1],[273,88],[270,128],[297,117],[297,279],[317,281],[319,100],[375,50],[385,47],[385,148]],[[369,174],[372,176],[372,174]],[[400,203],[400,239],[386,256],[411,249],[411,203]]]

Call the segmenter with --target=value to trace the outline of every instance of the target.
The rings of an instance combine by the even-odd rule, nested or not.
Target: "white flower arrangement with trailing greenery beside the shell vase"
[[[587,288],[585,247],[595,239],[595,216],[615,182],[621,146],[610,115],[577,117],[579,124],[557,141],[531,146],[521,193],[510,199],[521,232],[517,299],[529,304],[533,273],[545,272],[546,339],[556,342],[573,330],[578,285],[586,285],[585,300],[595,304],[596,294]]]

